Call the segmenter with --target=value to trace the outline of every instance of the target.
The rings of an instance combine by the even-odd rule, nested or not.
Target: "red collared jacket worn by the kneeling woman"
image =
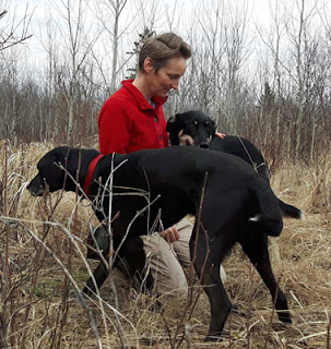
[[[153,108],[132,81],[122,81],[122,87],[102,108],[98,117],[102,154],[127,154],[168,145],[162,107],[167,98],[153,97]]]

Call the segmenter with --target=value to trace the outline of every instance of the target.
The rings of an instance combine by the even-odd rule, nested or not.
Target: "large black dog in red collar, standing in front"
[[[39,160],[39,172],[27,189],[35,195],[42,195],[46,182],[50,192],[60,189],[75,191],[74,178],[83,188],[87,168],[97,155],[91,149],[55,148]],[[58,164],[67,168],[67,174]],[[91,200],[94,200],[101,221],[109,221],[108,180],[111,168],[117,168],[111,177],[111,212],[113,218],[117,218],[113,221],[114,251],[110,253],[116,253],[130,226],[128,239],[119,253],[134,260],[141,272],[145,262],[142,243],[132,253],[139,236],[146,232],[158,216],[165,228],[187,214],[197,216],[204,191],[201,224],[198,227],[196,220],[190,253],[211,304],[206,339],[221,335],[232,309],[220,278],[220,265],[236,242],[241,244],[269,288],[279,318],[291,323],[287,301],[274,278],[268,252],[268,236],[281,233],[282,215],[269,183],[251,166],[236,156],[198,147],[173,146],[106,155],[98,160],[90,185]],[[130,239],[138,240],[131,243]],[[140,253],[140,263],[137,263],[134,253]],[[101,262],[94,273],[98,287],[107,273]],[[85,292],[88,288],[94,288],[91,279]]]

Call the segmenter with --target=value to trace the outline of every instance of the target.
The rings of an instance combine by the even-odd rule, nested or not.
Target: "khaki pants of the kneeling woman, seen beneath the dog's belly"
[[[184,218],[176,225],[176,228],[180,239],[173,243],[168,243],[158,232],[141,237],[149,268],[154,277],[156,288],[161,292],[188,291],[182,266],[189,266],[191,263],[189,242],[193,225]],[[220,276],[222,281],[226,280],[223,266],[220,268]]]

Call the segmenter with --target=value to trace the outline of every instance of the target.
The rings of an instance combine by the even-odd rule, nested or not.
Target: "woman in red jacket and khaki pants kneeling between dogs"
[[[190,57],[190,46],[174,33],[144,43],[135,79],[123,81],[122,87],[110,96],[99,113],[102,154],[127,154],[168,145],[163,104],[168,93],[178,88]],[[158,233],[141,237],[158,290],[187,291],[187,280],[178,260],[185,264],[190,262],[191,232],[192,225],[182,219]]]

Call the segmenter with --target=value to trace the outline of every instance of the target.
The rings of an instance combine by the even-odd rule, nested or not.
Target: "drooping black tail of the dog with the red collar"
[[[258,198],[259,212],[249,220],[268,236],[279,237],[283,229],[283,218],[277,197],[262,180],[255,193]]]

